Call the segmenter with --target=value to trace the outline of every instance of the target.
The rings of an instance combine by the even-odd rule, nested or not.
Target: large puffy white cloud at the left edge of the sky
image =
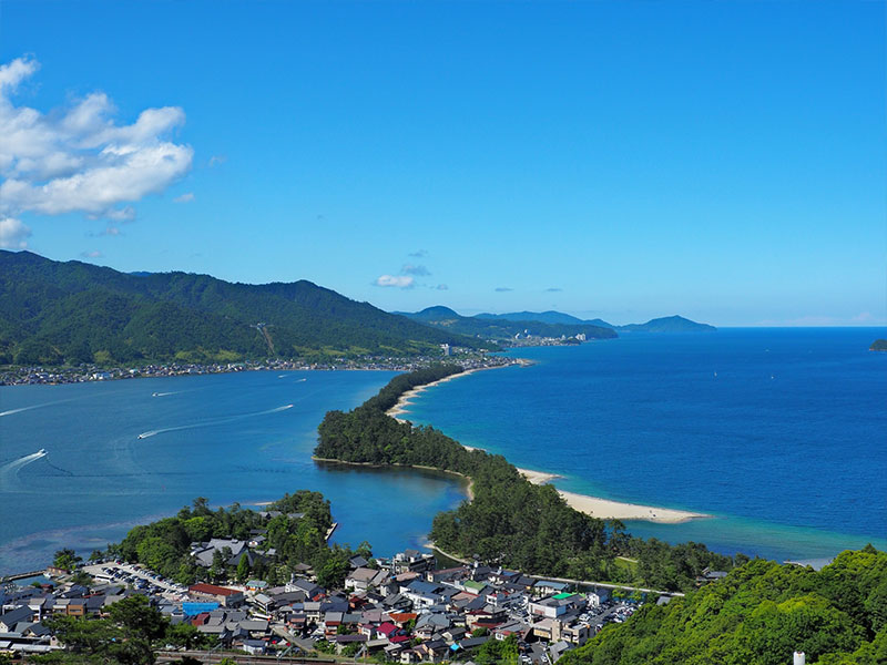
[[[115,109],[94,92],[43,114],[11,96],[39,63],[0,65],[0,215],[86,213],[132,219],[122,204],[164,191],[191,170],[194,151],[166,136],[185,121],[182,109],[146,109],[116,124]]]

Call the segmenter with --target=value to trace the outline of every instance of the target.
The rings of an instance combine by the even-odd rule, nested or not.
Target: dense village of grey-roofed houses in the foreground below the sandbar
[[[230,551],[233,565],[257,555],[263,536],[252,539],[193,543],[191,556],[208,566],[216,553]],[[212,636],[217,654],[470,662],[487,642],[510,638],[522,663],[551,665],[604,624],[624,621],[652,600],[601,587],[579,591],[478,562],[440,567],[434,555],[415,550],[391,559],[351,557],[343,589],[322,587],[306,564],[297,570],[287,584],[269,587],[258,580],[184,586],[120,560],[93,561],[77,571],[50,567],[50,583],[4,585],[0,653],[64,648],[41,623],[45,617],[108,616],[114,603],[142,595],[172,625],[187,623]],[[670,600],[662,595],[655,602]]]

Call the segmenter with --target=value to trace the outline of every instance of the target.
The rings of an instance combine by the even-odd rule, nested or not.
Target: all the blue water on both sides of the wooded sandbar
[[[532,361],[434,386],[406,418],[564,490],[712,518],[626,522],[643,538],[818,560],[887,550],[887,354],[873,328],[720,329],[521,348]],[[427,542],[451,475],[320,464],[317,424],[394,372],[249,371],[0,387],[0,574],[84,555],[197,497],[257,508],[309,489],[333,542]]]

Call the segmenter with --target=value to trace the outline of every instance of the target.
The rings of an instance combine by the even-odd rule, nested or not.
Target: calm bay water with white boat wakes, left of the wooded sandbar
[[[425,542],[463,499],[451,478],[312,461],[328,409],[349,409],[394,372],[246,372],[0,388],[0,574],[89,554],[137,523],[212,504],[317,490],[334,541],[389,555]],[[292,406],[290,406],[292,405]],[[144,434],[144,438],[139,438]],[[45,457],[37,457],[40,449]]]

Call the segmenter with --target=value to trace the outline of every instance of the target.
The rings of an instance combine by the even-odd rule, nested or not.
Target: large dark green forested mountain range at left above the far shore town
[[[417,355],[445,342],[485,345],[306,280],[252,285],[188,273],[131,275],[0,250],[0,364]]]

